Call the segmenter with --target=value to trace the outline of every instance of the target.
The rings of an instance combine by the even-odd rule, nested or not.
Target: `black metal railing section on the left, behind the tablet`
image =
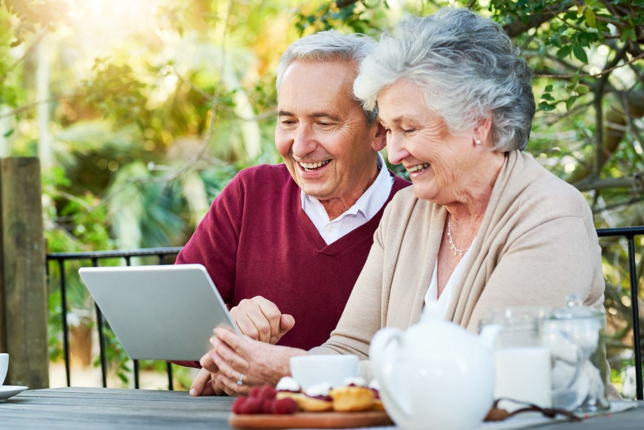
[[[176,256],[182,247],[171,247],[171,248],[146,248],[146,249],[137,249],[131,251],[91,251],[91,252],[53,252],[52,254],[47,255],[46,260],[46,272],[47,277],[50,275],[50,262],[56,262],[59,268],[60,275],[60,288],[61,288],[61,309],[62,309],[62,348],[65,361],[65,376],[67,381],[67,386],[71,386],[71,373],[70,373],[70,340],[69,340],[69,330],[67,326],[67,282],[65,274],[65,263],[66,261],[86,261],[90,260],[92,266],[99,266],[99,260],[102,259],[114,259],[122,258],[125,259],[126,265],[131,265],[131,259],[133,257],[156,257],[158,261],[157,264],[164,265],[167,264],[168,256]],[[103,315],[100,312],[99,306],[94,304],[96,310],[96,321],[97,321],[97,330],[99,334],[99,351],[100,351],[100,373],[102,376],[103,387],[107,387],[107,361],[105,358],[105,335],[104,335],[104,321]],[[133,374],[134,374],[134,386],[138,388],[138,360],[133,360]],[[172,377],[172,366],[169,362],[166,362],[167,369],[167,386],[168,389],[174,389],[173,386],[173,377]]]

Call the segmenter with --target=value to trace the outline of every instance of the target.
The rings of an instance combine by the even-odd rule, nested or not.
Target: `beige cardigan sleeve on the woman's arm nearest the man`
[[[375,332],[381,328],[384,238],[383,225],[386,225],[385,210],[383,219],[374,234],[365,266],[354,289],[336,330],[322,346],[310,350],[314,354],[355,354],[361,359],[369,356],[369,344]]]

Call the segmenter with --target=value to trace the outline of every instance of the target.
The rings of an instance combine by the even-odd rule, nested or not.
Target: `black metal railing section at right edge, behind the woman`
[[[628,242],[629,277],[630,277],[630,312],[633,318],[633,350],[635,351],[635,388],[638,400],[644,400],[642,387],[642,356],[639,340],[639,303],[638,303],[638,274],[635,268],[635,236],[644,235],[644,226],[621,227],[616,229],[598,229],[597,236],[625,237]]]

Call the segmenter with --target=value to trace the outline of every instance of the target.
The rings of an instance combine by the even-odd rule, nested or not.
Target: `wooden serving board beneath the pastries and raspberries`
[[[290,415],[232,414],[228,422],[236,429],[339,429],[393,424],[385,411],[297,412]]]

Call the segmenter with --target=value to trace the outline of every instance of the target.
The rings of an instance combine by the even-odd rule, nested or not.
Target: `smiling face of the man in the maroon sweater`
[[[377,125],[352,98],[353,62],[293,62],[279,87],[275,145],[299,187],[353,204],[377,174]],[[353,200],[353,202],[351,201]]]

